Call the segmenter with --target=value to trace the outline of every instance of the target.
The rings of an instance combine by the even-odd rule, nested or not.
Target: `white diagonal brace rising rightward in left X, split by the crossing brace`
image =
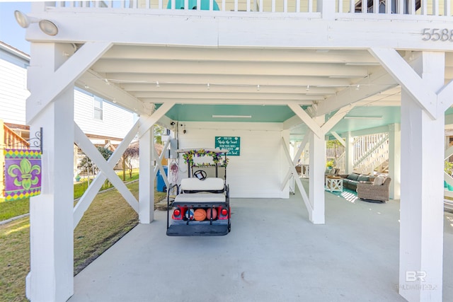
[[[122,154],[125,153],[125,150],[130,145],[132,139],[134,139],[135,135],[138,132],[138,129],[139,122],[137,121],[132,126],[130,131],[126,134],[125,138],[122,139],[121,143],[117,146],[110,158],[108,158],[107,162],[108,165],[110,165],[110,168],[115,167]],[[90,186],[86,189],[82,197],[79,199],[79,202],[77,202],[76,206],[74,207],[74,228],[76,228],[77,224],[79,224],[80,219],[82,218],[82,216],[84,216],[84,213],[90,206],[91,202],[93,202],[94,197],[96,197],[96,194],[98,194],[105,180],[107,180],[107,177],[104,173],[99,173],[98,175],[96,175],[96,178],[94,178],[93,182],[91,182]]]

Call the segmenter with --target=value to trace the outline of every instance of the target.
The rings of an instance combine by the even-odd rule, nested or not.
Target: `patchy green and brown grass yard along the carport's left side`
[[[138,199],[138,182],[127,187]],[[164,199],[155,192],[154,200]],[[74,274],[96,259],[138,223],[137,213],[117,190],[98,194],[74,230]],[[30,219],[0,226],[0,301],[28,301],[25,277],[30,270]]]

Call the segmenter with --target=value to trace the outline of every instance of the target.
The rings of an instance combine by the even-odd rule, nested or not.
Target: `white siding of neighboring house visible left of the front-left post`
[[[20,61],[18,61],[20,63]],[[0,57],[0,120],[13,124],[25,124],[25,100],[27,69]]]

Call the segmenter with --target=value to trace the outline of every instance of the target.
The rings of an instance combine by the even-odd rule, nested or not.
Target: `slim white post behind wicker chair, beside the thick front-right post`
[[[389,125],[389,177],[391,199],[401,197],[401,129],[399,124]]]

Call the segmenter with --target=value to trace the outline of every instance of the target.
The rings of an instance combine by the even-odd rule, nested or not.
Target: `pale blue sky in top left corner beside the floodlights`
[[[30,2],[0,0],[0,41],[30,54],[30,42],[25,40],[25,28],[21,28],[14,18],[14,11],[30,13]]]

